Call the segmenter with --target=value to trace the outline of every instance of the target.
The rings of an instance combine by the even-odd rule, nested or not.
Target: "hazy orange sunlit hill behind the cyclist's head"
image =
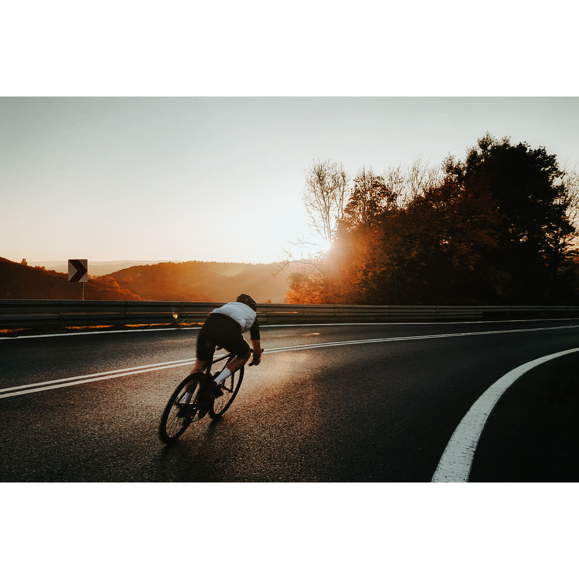
[[[228,302],[249,294],[257,302],[283,303],[290,272],[274,277],[276,271],[275,263],[166,262],[128,267],[96,280],[153,301]]]

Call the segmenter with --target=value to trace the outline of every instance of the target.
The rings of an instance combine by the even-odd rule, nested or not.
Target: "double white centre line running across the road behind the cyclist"
[[[490,332],[467,332],[460,334],[434,334],[426,336],[405,336],[402,338],[374,338],[369,340],[347,340],[345,342],[323,342],[318,344],[303,344],[299,346],[283,346],[279,348],[267,349],[267,354],[274,354],[277,352],[289,352],[296,350],[309,350],[314,348],[327,348],[332,346],[350,346],[356,344],[369,344],[379,342],[403,342],[404,340],[426,340],[431,338],[453,338],[457,336],[479,336],[486,334],[511,334],[513,332],[540,332],[549,329],[565,329],[565,328],[579,328],[579,325],[574,326],[554,326],[551,328],[526,328],[526,329],[508,329],[495,330]],[[118,370],[111,370],[108,372],[98,372],[94,374],[87,374],[85,376],[72,376],[71,378],[61,378],[58,380],[47,380],[47,382],[36,382],[34,384],[24,384],[23,386],[11,386],[0,390],[0,392],[7,392],[7,394],[0,394],[0,398],[8,398],[10,396],[18,396],[21,394],[28,394],[30,392],[40,392],[42,390],[52,390],[54,388],[62,388],[64,386],[73,386],[74,384],[86,384],[88,382],[97,382],[97,380],[108,380],[109,378],[118,378],[119,376],[130,376],[142,372],[152,372],[153,370],[161,370],[164,368],[174,368],[177,366],[185,366],[192,364],[195,358],[186,358],[184,360],[173,360],[170,362],[159,362],[157,364],[148,364],[146,366],[136,366],[134,368],[121,368]],[[180,363],[182,362],[182,363]],[[142,369],[141,369],[142,368]],[[134,372],[131,372],[135,370]],[[84,380],[86,378],[86,380]],[[52,385],[48,385],[52,384]],[[34,386],[41,386],[34,388]],[[30,390],[28,390],[30,389]],[[20,390],[18,392],[14,390]],[[12,392],[8,392],[12,391]]]

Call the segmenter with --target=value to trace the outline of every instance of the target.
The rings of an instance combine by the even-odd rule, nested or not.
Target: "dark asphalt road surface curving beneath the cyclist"
[[[519,365],[579,347],[579,320],[263,327],[263,362],[228,412],[165,446],[160,415],[196,335],[0,340],[0,480],[429,482],[478,397]],[[556,358],[505,392],[470,482],[579,480],[577,362]]]

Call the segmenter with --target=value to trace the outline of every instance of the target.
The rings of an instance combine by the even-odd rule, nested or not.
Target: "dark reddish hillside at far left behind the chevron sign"
[[[0,299],[80,299],[78,283],[69,283],[68,275],[42,267],[30,267],[0,257]],[[130,290],[113,284],[89,280],[85,299],[140,300]]]

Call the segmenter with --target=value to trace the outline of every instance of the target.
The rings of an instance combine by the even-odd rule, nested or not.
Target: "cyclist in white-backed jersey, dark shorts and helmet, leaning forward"
[[[251,363],[256,366],[261,362],[261,336],[256,311],[255,300],[251,296],[241,294],[234,302],[213,310],[197,336],[197,359],[190,372],[192,375],[203,378],[203,367],[212,359],[215,345],[225,348],[236,356],[219,375],[213,376],[212,382],[208,384],[206,391],[216,398],[223,395],[219,384],[243,368],[251,357],[250,345],[243,338],[243,332],[250,331],[253,347]],[[187,392],[182,404],[188,405],[191,396],[192,393]]]

